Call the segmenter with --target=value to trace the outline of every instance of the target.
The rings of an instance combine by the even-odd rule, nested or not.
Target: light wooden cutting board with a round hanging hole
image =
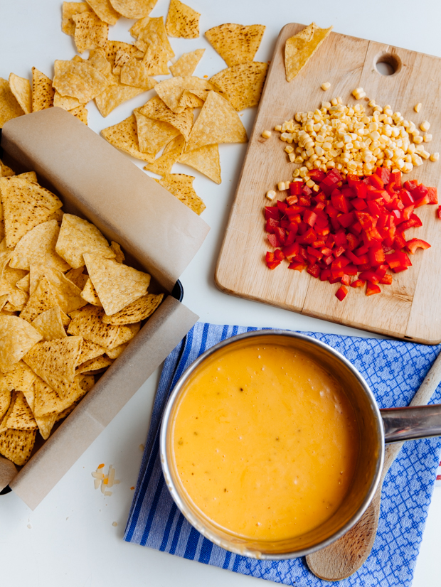
[[[406,239],[418,237],[432,244],[411,256],[413,266],[394,274],[393,284],[381,286],[382,292],[366,296],[364,288],[349,288],[340,302],[334,293],[339,284],[330,285],[307,274],[287,269],[282,262],[270,271],[265,252],[273,250],[267,242],[263,208],[269,204],[267,190],[277,190],[277,182],[292,178],[297,165],[290,163],[286,146],[273,131],[276,124],[294,117],[296,112],[319,108],[322,101],[341,96],[345,104],[355,104],[351,92],[363,87],[368,114],[368,99],[390,104],[419,127],[430,122],[433,139],[426,150],[441,151],[441,59],[374,41],[331,33],[318,52],[297,77],[285,78],[284,49],[287,38],[304,25],[291,23],[282,28],[260,100],[243,170],[235,194],[225,239],[216,268],[216,284],[225,293],[270,303],[287,310],[323,318],[332,322],[372,330],[425,344],[441,341],[441,220],[435,217],[437,206],[418,209],[423,227],[410,229]],[[393,75],[376,70],[378,60],[395,65]],[[324,92],[320,86],[331,82]],[[413,107],[423,104],[419,114]],[[262,131],[272,130],[270,139]],[[404,176],[417,179],[440,190],[441,160],[425,161]],[[286,192],[277,192],[285,199]],[[441,200],[440,200],[441,204]]]

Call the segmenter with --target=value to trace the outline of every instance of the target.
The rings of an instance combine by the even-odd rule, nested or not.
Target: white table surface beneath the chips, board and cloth
[[[334,26],[334,31],[369,38],[398,47],[441,56],[441,3],[438,0],[371,0],[330,2],[314,0],[188,0],[201,13],[201,38],[171,38],[176,55],[206,48],[196,75],[208,75],[225,67],[223,60],[203,37],[203,32],[225,22],[267,26],[256,60],[271,59],[280,28],[288,22]],[[159,0],[151,16],[166,15],[168,0]],[[122,18],[110,28],[110,38],[133,41],[128,33],[133,21]],[[0,77],[10,72],[31,77],[35,66],[53,76],[55,59],[75,55],[72,38],[60,30],[61,0],[0,0]],[[323,80],[326,81],[326,80]],[[89,124],[95,131],[116,124],[153,95],[142,94],[117,107],[103,119],[95,104],[89,106]],[[400,104],[395,104],[400,109]],[[243,123],[251,131],[255,108],[245,110]],[[433,129],[434,132],[439,131]],[[209,181],[188,167],[174,171],[196,175],[194,186],[207,209],[203,218],[211,226],[206,242],[181,277],[184,303],[201,321],[239,325],[274,326],[298,330],[367,336],[367,333],[319,321],[278,308],[226,296],[213,280],[216,260],[228,220],[235,185],[245,155],[245,145],[222,145],[221,185]],[[136,160],[133,159],[135,162]],[[140,165],[139,161],[136,163]],[[9,493],[0,496],[1,585],[36,587],[195,587],[199,585],[245,587],[264,585],[262,579],[242,576],[150,550],[122,540],[136,485],[143,444],[159,370],[139,389],[107,429],[92,443],[60,483],[32,512]],[[100,463],[112,464],[120,485],[111,497],[93,489],[92,470]],[[117,527],[112,525],[117,522]],[[440,585],[439,526],[441,488],[435,488],[414,587]]]

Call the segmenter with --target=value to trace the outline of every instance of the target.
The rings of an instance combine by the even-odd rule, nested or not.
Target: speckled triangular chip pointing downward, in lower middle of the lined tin
[[[68,336],[37,343],[23,360],[63,398],[72,387],[82,342],[80,336]]]

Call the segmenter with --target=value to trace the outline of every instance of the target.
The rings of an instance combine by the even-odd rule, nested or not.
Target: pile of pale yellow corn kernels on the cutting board
[[[353,95],[360,99],[366,93],[360,87]],[[344,175],[359,176],[368,176],[380,166],[409,173],[414,166],[422,165],[423,159],[438,160],[438,153],[425,150],[425,144],[432,140],[427,133],[429,122],[422,122],[418,129],[388,104],[382,108],[372,99],[368,106],[373,108],[371,116],[363,104],[346,106],[341,97],[336,97],[322,102],[314,112],[297,112],[294,119],[275,126],[280,139],[287,143],[289,161],[301,165],[293,178],[307,182],[309,170],[326,172],[332,168]],[[417,104],[415,112],[420,107]]]

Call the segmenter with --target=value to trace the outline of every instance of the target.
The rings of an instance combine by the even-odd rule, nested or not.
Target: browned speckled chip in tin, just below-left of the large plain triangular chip
[[[128,343],[136,334],[129,326],[103,324],[104,315],[104,310],[95,306],[85,306],[77,310],[72,314],[73,320],[69,324],[68,334],[81,335],[85,340],[90,340],[107,350]]]

